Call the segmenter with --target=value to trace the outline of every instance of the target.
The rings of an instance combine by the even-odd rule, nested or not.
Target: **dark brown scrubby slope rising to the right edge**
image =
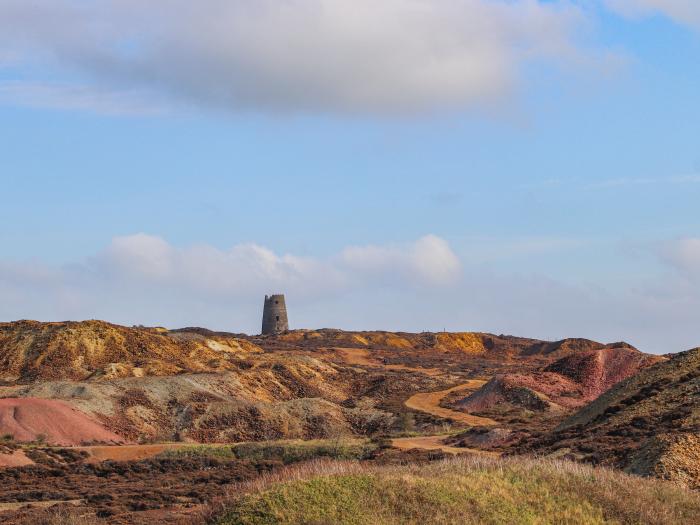
[[[569,454],[700,488],[700,348],[618,383],[522,451]]]

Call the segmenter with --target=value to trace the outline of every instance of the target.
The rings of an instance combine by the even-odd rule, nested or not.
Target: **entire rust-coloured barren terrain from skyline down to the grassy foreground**
[[[230,483],[275,468],[159,456],[196,443],[362,436],[382,444],[383,461],[535,451],[645,475],[683,471],[687,482],[697,475],[694,365],[668,382],[645,379],[624,398],[633,401],[600,405],[680,362],[660,361],[624,343],[482,333],[0,324],[0,519],[26,523],[44,510],[23,502],[59,501],[109,523],[188,522]],[[682,378],[690,386],[676,388]],[[649,415],[664,396],[676,408]],[[650,440],[652,427],[663,435]],[[119,440],[127,445],[108,446]],[[636,459],[622,461],[629,450]]]

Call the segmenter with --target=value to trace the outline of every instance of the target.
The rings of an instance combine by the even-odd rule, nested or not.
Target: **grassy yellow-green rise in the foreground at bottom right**
[[[314,461],[237,486],[217,524],[698,523],[700,496],[569,462],[460,457],[427,466]]]

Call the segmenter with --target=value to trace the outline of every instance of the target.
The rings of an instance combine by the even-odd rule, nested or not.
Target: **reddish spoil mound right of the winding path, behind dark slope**
[[[619,381],[663,360],[629,345],[600,345],[591,350],[591,345],[577,342],[549,347],[547,352],[562,352],[566,346],[573,348],[572,353],[534,372],[497,375],[458,406],[470,412],[503,403],[539,411],[578,408]]]

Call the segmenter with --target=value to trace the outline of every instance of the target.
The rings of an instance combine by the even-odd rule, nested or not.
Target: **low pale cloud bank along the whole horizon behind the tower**
[[[101,318],[257,333],[262,298],[288,296],[293,327],[474,330],[627,340],[659,353],[700,344],[700,239],[655,248],[661,277],[620,286],[499,273],[435,235],[330,257],[257,244],[176,247],[137,234],[63,266],[0,261],[0,319]],[[575,277],[575,276],[574,276]]]

